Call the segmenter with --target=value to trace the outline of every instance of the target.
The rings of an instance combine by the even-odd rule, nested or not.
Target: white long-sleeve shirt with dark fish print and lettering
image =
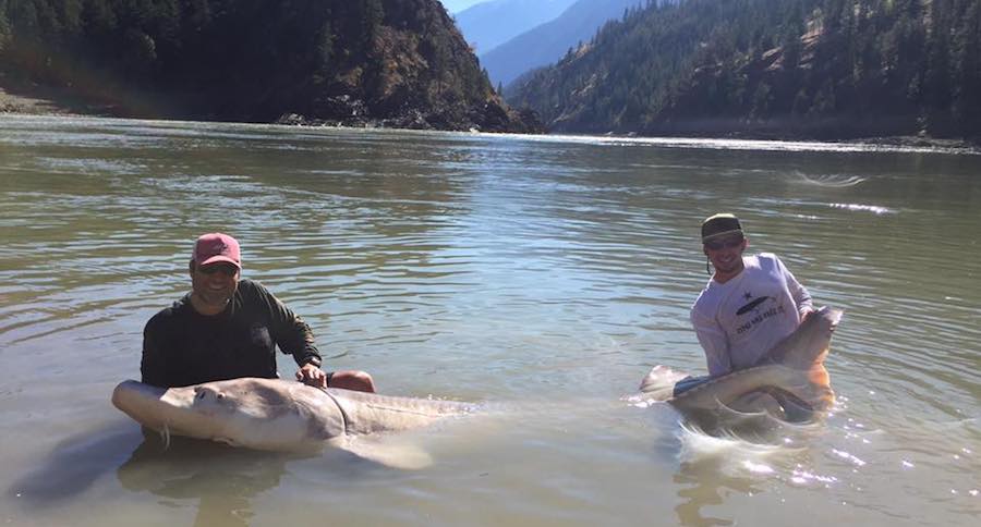
[[[712,377],[755,365],[812,309],[810,293],[776,255],[747,256],[742,262],[742,272],[726,283],[710,280],[691,307]]]

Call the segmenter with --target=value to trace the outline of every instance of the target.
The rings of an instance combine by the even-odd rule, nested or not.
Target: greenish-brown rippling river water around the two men
[[[845,309],[816,425],[712,438],[623,400],[699,372],[698,242],[743,219]],[[8,525],[977,525],[981,156],[0,117]],[[136,453],[109,403],[201,233],[330,368],[486,410],[341,452]],[[295,369],[281,356],[280,372]],[[391,445],[389,445],[391,446]]]

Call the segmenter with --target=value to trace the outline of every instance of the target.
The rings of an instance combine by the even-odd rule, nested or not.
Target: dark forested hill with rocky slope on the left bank
[[[125,115],[525,130],[436,0],[0,0],[0,70]]]

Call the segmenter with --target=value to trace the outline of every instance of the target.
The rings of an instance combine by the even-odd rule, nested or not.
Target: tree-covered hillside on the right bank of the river
[[[555,131],[977,138],[981,0],[651,5],[508,95]]]

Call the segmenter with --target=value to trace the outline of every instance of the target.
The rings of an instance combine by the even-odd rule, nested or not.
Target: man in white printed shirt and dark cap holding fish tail
[[[691,323],[711,377],[756,365],[814,310],[808,290],[776,255],[743,256],[748,246],[735,216],[702,223],[702,249],[715,272],[691,308]]]

